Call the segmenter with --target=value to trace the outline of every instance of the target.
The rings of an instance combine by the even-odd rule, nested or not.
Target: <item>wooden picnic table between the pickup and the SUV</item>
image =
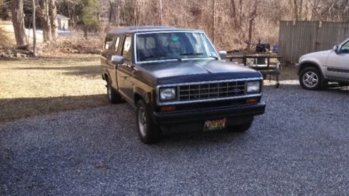
[[[233,59],[242,59],[242,64],[244,66],[258,70],[263,75],[264,79],[269,75],[269,81],[272,80],[272,76],[276,77],[276,88],[279,88],[282,56],[270,54],[228,54],[226,59],[230,61],[233,61]],[[277,61],[271,63],[271,59],[276,59]]]

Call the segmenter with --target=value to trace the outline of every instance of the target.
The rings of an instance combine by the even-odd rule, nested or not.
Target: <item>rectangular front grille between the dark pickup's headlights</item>
[[[179,100],[205,100],[245,95],[246,82],[216,82],[179,86]]]

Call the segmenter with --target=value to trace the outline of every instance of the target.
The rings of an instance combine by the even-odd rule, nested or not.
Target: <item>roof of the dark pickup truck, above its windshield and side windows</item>
[[[144,32],[153,32],[153,31],[200,31],[197,29],[178,29],[176,27],[169,26],[139,26],[139,27],[120,27],[114,29],[108,33],[109,36],[124,34],[124,33],[144,33]]]

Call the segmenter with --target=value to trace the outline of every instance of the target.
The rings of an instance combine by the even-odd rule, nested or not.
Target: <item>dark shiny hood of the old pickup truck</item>
[[[157,84],[262,77],[251,68],[217,60],[166,61],[143,63],[140,66],[154,77]]]

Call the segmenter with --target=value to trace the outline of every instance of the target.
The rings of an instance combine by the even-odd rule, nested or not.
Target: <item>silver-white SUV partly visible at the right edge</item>
[[[296,64],[299,83],[304,89],[319,90],[328,82],[349,85],[349,38],[333,50],[301,56]]]

